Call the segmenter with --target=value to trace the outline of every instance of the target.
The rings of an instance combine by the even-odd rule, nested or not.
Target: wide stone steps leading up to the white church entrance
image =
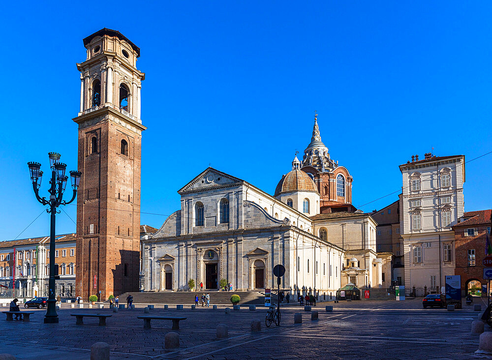
[[[195,295],[200,299],[202,294],[207,292],[201,291],[148,291],[143,293],[124,293],[120,295],[120,303],[126,303],[126,297],[131,294],[134,304],[183,304],[193,305],[195,303]],[[232,306],[231,296],[239,295],[241,301],[239,305],[258,305],[265,304],[265,293],[262,291],[211,291],[210,304]],[[272,292],[272,303],[278,301],[277,294]]]

